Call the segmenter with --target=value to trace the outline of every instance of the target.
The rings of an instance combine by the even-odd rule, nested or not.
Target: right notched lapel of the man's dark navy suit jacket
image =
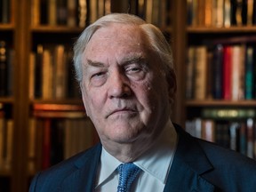
[[[214,186],[202,177],[204,172],[213,170],[203,149],[188,133],[176,125],[175,128],[179,141],[164,192],[214,191]]]

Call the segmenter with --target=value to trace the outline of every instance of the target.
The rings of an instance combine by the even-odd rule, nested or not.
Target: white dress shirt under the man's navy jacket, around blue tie
[[[140,167],[142,172],[132,184],[132,191],[164,191],[177,140],[177,133],[171,120],[169,120],[153,148],[150,148],[147,153],[133,162],[133,164]],[[122,164],[122,162],[111,156],[105,148],[102,148],[95,187],[96,192],[116,191],[119,177],[116,168],[119,164]]]

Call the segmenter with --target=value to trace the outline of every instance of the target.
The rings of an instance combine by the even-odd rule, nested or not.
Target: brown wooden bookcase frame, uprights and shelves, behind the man
[[[112,0],[113,1],[113,0]],[[119,1],[119,0],[118,0]],[[232,27],[232,28],[204,28],[187,27],[187,0],[172,0],[172,28],[162,28],[171,34],[173,59],[177,74],[178,90],[173,105],[172,121],[185,126],[188,116],[188,108],[206,107],[252,107],[256,108],[255,100],[186,100],[186,55],[188,50],[188,35],[200,34],[202,39],[205,34],[218,36],[223,33],[248,33],[256,32],[256,27]],[[113,4],[115,1],[113,1]],[[0,34],[7,32],[12,34],[13,47],[15,48],[16,68],[14,69],[13,82],[14,93],[11,98],[0,98],[0,102],[12,105],[12,116],[14,120],[12,172],[1,173],[1,177],[9,177],[11,180],[11,191],[28,191],[29,181],[33,177],[28,172],[28,119],[31,116],[31,105],[34,103],[57,103],[78,104],[81,100],[29,100],[28,96],[28,63],[29,52],[31,52],[34,39],[33,36],[47,36],[47,34],[78,34],[82,28],[30,26],[30,0],[12,0],[11,24],[0,24]],[[115,7],[118,10],[118,7]],[[50,39],[51,41],[51,39]],[[1,180],[1,179],[0,179]],[[1,188],[1,186],[0,186]]]

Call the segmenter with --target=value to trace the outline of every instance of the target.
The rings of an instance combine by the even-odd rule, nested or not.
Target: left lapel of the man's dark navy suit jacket
[[[94,190],[97,167],[100,162],[101,145],[93,148],[86,156],[76,160],[76,170],[70,172],[68,177],[63,180],[61,192],[90,192]]]

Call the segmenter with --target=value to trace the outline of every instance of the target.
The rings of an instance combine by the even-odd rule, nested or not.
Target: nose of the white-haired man
[[[109,98],[124,98],[132,93],[129,79],[120,71],[113,72],[108,77]]]

